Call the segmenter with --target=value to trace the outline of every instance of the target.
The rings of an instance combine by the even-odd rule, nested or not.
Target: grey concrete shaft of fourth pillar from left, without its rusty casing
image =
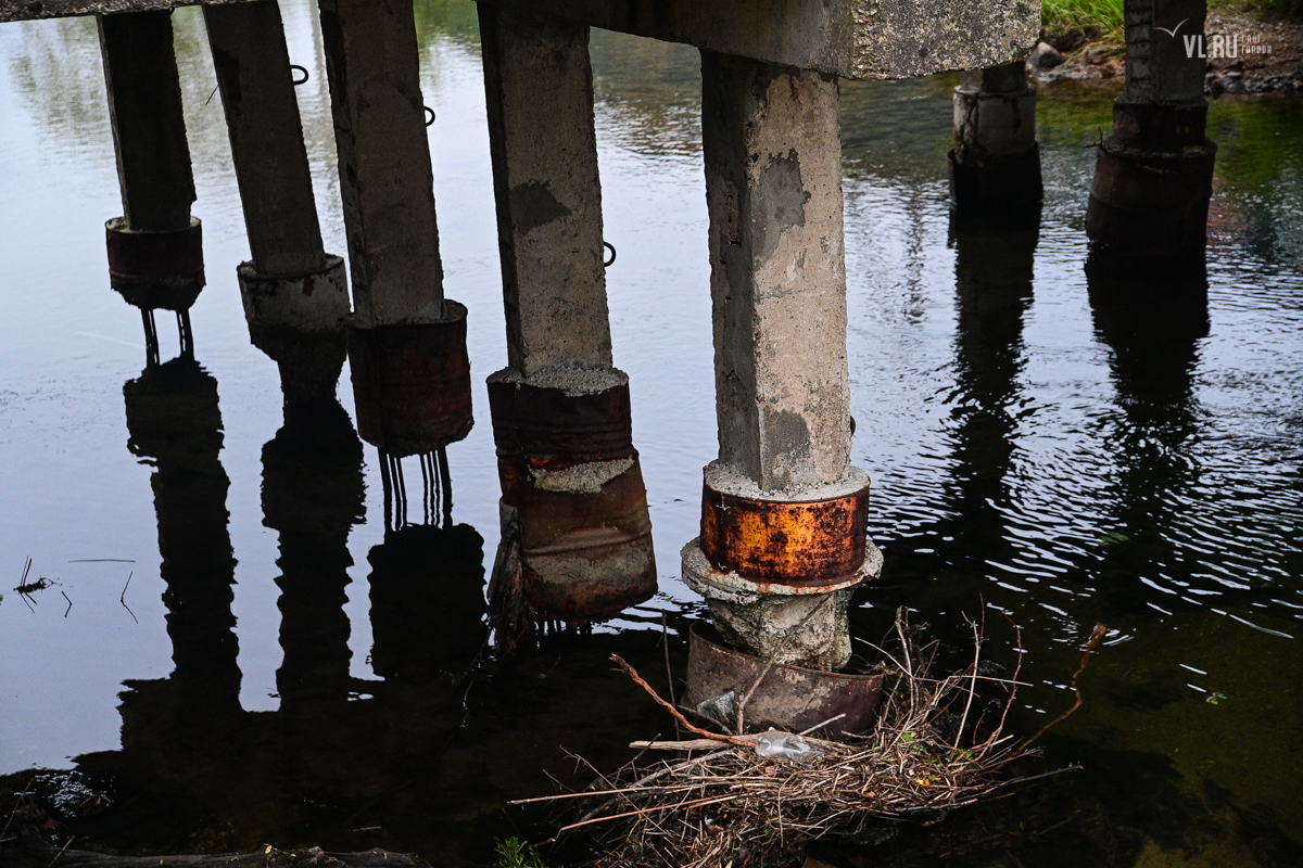
[[[508,366],[610,367],[588,27],[481,4],[480,33]]]

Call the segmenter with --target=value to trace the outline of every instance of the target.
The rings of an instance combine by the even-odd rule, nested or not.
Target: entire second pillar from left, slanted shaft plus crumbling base
[[[332,401],[344,364],[344,260],[322,247],[308,148],[276,0],[205,7],[251,258],[249,337],[280,367],[285,401]]]

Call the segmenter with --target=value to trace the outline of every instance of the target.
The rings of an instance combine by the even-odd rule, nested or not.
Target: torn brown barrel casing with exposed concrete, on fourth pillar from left
[[[495,376],[489,406],[534,616],[603,621],[655,593],[628,383],[569,394]]]

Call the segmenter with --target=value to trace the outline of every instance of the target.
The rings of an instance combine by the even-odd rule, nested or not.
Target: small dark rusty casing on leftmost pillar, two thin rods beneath
[[[188,311],[203,289],[203,225],[142,232],[125,217],[104,224],[108,281],[128,305],[142,310]]]

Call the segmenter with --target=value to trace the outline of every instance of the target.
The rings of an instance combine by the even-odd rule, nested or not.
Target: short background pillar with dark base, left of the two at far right
[[[1041,200],[1036,87],[1023,61],[959,74],[955,147],[946,155],[950,199],[962,212],[999,212]]]

